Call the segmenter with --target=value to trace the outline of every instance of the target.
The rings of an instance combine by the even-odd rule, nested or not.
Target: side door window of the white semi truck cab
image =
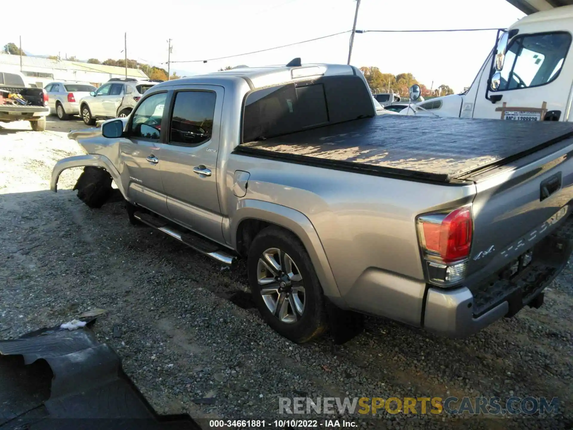
[[[511,41],[497,91],[539,87],[559,76],[571,45],[569,33],[524,34]]]

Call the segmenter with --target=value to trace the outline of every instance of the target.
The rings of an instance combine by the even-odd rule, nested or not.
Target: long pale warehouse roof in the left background
[[[20,56],[11,54],[0,54],[0,64],[20,65]],[[50,60],[42,57],[22,56],[22,67],[43,67],[48,69],[78,70],[85,72],[113,73],[123,75],[124,67],[107,66],[104,64],[91,64],[88,62]],[[147,75],[139,69],[127,69],[127,75],[133,77],[147,78]]]

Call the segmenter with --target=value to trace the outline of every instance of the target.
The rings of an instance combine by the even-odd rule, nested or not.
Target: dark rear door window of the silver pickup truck
[[[176,93],[169,143],[196,146],[211,139],[216,99],[212,91]]]

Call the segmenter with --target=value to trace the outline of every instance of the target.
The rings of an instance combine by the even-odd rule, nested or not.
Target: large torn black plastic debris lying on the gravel
[[[195,430],[158,415],[90,330],[43,329],[0,341],[2,430]]]

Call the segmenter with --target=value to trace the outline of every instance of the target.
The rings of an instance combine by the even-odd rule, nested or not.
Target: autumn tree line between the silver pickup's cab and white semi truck
[[[436,88],[427,88],[426,85],[419,83],[411,73],[382,73],[378,67],[361,67],[360,70],[366,78],[368,86],[374,93],[394,92],[401,96],[407,96],[410,87],[418,84],[422,89],[422,97],[436,97],[453,94],[454,90],[449,85],[439,85]]]

